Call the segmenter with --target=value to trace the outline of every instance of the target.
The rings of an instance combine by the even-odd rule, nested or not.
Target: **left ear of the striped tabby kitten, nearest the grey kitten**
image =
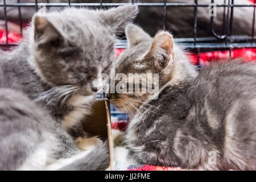
[[[151,40],[151,36],[148,35],[142,28],[135,26],[135,24],[128,24],[125,28],[125,35],[128,42],[128,47],[136,46],[144,40]]]

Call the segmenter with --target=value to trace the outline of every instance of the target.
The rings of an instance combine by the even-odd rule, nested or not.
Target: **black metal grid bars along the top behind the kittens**
[[[8,17],[6,12],[6,7],[18,7],[19,10],[19,24],[20,30],[22,30],[22,13],[20,11],[20,7],[35,7],[36,10],[39,10],[40,7],[71,7],[71,6],[87,6],[87,7],[98,7],[98,8],[108,8],[108,7],[115,7],[115,6],[122,6],[127,5],[129,3],[104,3],[104,0],[100,0],[98,3],[71,3],[71,0],[68,3],[38,3],[38,0],[35,0],[34,3],[20,3],[20,0],[17,0],[17,3],[9,4],[6,0],[3,0],[3,4],[0,7],[4,9],[4,18],[5,18],[5,29],[6,34],[8,35]],[[214,3],[214,0],[211,0]],[[255,42],[255,7],[256,7],[256,0],[254,0],[253,4],[244,4],[244,5],[237,5],[234,4],[234,0],[224,0],[225,3],[217,4],[217,7],[225,7],[224,11],[224,34],[217,35],[214,31],[214,16],[210,17],[210,26],[212,30],[212,37],[210,38],[197,38],[197,8],[198,7],[208,7],[209,5],[202,5],[199,4],[197,0],[194,3],[167,3],[166,0],[163,0],[162,3],[138,3],[137,1],[133,0],[132,3],[138,5],[139,7],[163,7],[163,29],[167,26],[167,7],[193,7],[193,37],[192,38],[179,38],[176,39],[177,42],[183,43],[183,45],[187,48],[190,48],[193,52],[197,52],[198,54],[202,49],[228,49],[231,56],[231,51],[233,48],[246,48],[246,47],[256,47]],[[253,11],[253,22],[252,23],[252,30],[251,36],[245,35],[231,35],[232,27],[233,27],[233,9],[234,7],[252,7]],[[22,32],[21,32],[22,34]],[[6,43],[5,46],[13,46],[8,41],[8,36],[6,36]],[[117,48],[125,48],[126,47],[126,40],[122,40],[117,44]]]

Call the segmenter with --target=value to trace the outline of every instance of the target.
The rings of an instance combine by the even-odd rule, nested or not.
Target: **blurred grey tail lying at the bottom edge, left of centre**
[[[59,171],[102,171],[109,167],[109,145],[105,142],[88,155],[64,166]]]

